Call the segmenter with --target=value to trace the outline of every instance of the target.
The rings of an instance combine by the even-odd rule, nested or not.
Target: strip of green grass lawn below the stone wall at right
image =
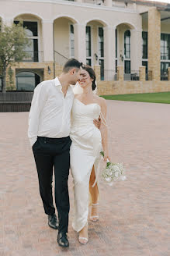
[[[119,95],[106,95],[101,96],[106,100],[116,101],[141,101],[141,102],[152,102],[152,103],[166,103],[170,104],[170,91],[158,92],[150,94],[119,94]]]

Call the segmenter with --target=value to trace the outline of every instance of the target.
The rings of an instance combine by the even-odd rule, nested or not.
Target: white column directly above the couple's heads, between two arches
[[[86,63],[86,40],[85,40],[85,24],[74,24],[75,34],[75,59],[79,62]]]

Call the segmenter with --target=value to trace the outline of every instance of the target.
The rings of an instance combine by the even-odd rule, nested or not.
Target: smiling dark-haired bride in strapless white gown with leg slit
[[[73,229],[79,233],[81,244],[88,242],[88,190],[92,197],[91,220],[97,215],[98,177],[100,151],[103,148],[104,161],[109,158],[107,146],[106,100],[93,93],[95,90],[95,72],[90,66],[83,66],[79,85],[82,94],[75,94],[71,110],[72,140],[71,173],[74,183],[75,214]],[[93,119],[101,119],[100,128],[96,128]]]

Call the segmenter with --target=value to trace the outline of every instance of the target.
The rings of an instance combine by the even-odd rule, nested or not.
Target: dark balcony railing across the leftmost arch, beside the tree
[[[19,62],[43,62],[43,52],[25,51],[26,57]],[[17,62],[17,59],[16,59]]]

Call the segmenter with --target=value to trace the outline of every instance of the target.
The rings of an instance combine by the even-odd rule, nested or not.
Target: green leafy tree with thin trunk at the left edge
[[[29,45],[29,39],[26,37],[26,28],[23,23],[3,26],[0,31],[0,72],[2,75],[2,92],[6,91],[6,73],[7,68],[12,63],[22,61],[28,57],[24,51],[26,45]]]

